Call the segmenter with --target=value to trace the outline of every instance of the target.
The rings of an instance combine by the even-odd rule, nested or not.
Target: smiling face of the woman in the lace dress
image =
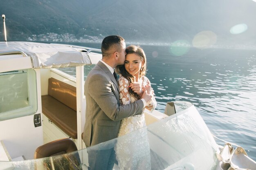
[[[141,69],[141,65],[143,65],[143,61],[141,57],[137,54],[127,54],[124,61],[124,67],[128,73],[134,75],[136,77],[139,76],[139,71]]]

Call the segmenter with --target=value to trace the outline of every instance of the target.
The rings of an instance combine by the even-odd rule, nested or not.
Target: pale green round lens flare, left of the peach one
[[[171,53],[176,56],[186,54],[190,49],[190,44],[187,40],[177,40],[171,44]]]

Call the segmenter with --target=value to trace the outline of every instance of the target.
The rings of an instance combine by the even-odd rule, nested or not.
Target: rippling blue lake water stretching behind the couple
[[[256,160],[256,50],[191,48],[175,56],[168,46],[142,48],[157,110],[164,112],[169,101],[192,102],[213,135],[242,146]]]

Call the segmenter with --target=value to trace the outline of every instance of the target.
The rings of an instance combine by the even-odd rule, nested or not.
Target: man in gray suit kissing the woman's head
[[[117,65],[124,64],[125,49],[124,38],[118,35],[104,38],[101,43],[102,60],[92,68],[85,80],[86,113],[83,141],[86,147],[116,138],[121,119],[142,114],[152,98],[148,88],[141,99],[120,105],[119,88],[113,73]],[[106,169],[108,158],[113,155],[110,152],[113,150],[93,151],[93,154],[90,152],[89,168]],[[108,166],[111,168],[111,165]]]

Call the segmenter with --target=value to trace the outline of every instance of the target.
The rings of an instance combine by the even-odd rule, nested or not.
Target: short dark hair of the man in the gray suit
[[[102,57],[108,57],[111,53],[112,47],[115,47],[115,51],[120,52],[121,42],[124,42],[124,38],[119,35],[109,35],[105,37],[101,43]]]

